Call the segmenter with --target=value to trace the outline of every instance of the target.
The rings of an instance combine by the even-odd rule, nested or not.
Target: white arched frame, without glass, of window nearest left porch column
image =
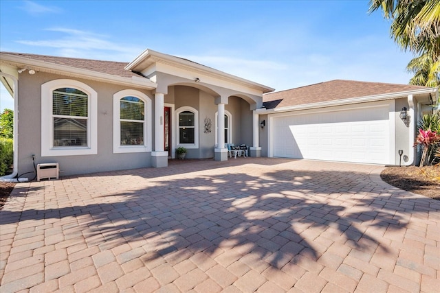
[[[120,99],[123,97],[137,97],[144,102],[144,144],[121,145]],[[113,95],[113,153],[124,152],[151,152],[151,98],[134,89],[124,89]]]

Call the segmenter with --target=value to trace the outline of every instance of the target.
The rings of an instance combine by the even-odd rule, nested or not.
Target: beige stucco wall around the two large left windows
[[[59,163],[60,175],[84,174],[104,170],[149,167],[151,153],[113,154],[113,94],[126,86],[79,80],[98,92],[98,154],[78,156],[41,156],[41,84],[50,80],[69,78],[38,72],[23,74],[19,79],[19,174],[32,172],[32,154],[35,162]],[[153,97],[151,92],[137,89]],[[154,100],[153,100],[154,102]],[[104,115],[107,112],[107,115]],[[32,174],[30,174],[32,176]]]

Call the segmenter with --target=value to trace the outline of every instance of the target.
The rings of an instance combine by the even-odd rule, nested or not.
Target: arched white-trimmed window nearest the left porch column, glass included
[[[136,90],[113,95],[113,152],[151,151],[151,99]],[[149,120],[148,120],[149,121]]]

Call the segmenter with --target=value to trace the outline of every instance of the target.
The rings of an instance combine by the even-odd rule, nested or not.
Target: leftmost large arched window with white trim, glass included
[[[97,99],[77,80],[41,85],[41,156],[97,154]]]

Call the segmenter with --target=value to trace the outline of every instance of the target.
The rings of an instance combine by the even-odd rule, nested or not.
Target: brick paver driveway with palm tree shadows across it
[[[238,158],[20,183],[0,291],[436,292],[440,202],[381,170]]]

